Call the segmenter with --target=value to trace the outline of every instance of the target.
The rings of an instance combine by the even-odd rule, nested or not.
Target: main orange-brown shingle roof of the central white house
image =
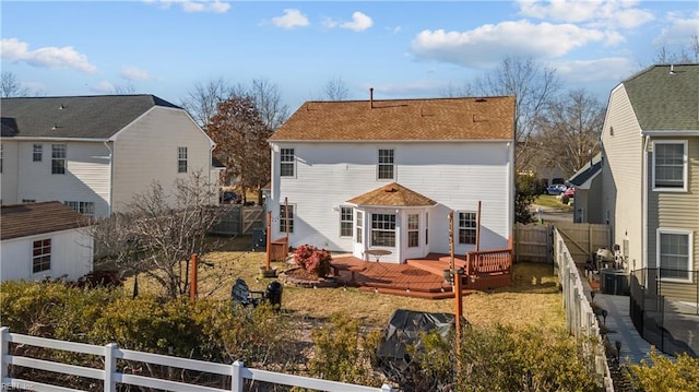
[[[514,97],[307,102],[270,141],[513,140]]]

